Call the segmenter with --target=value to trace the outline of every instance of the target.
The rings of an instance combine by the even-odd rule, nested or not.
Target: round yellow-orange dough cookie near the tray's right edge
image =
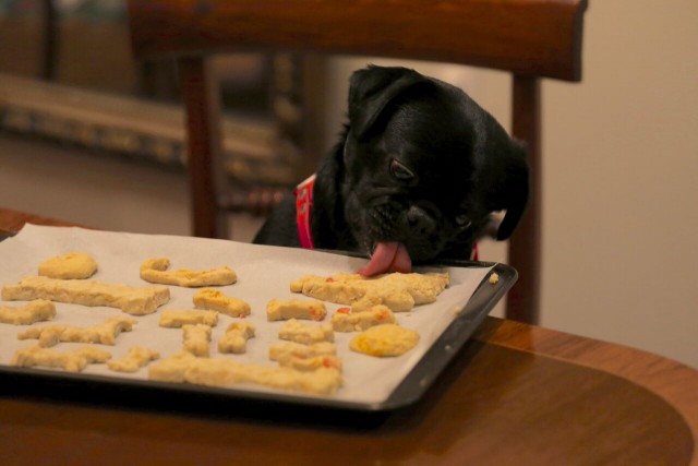
[[[400,356],[419,342],[419,333],[397,324],[372,326],[351,338],[349,348],[369,356]]]

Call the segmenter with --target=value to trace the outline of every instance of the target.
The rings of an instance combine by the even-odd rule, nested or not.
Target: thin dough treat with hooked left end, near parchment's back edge
[[[148,259],[141,264],[141,278],[184,287],[232,285],[238,280],[236,273],[227,266],[205,271],[168,271],[169,266],[170,260],[167,258]]]

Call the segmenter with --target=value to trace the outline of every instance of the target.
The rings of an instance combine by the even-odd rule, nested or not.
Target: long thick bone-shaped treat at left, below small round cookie
[[[48,299],[82,306],[106,306],[121,309],[132,315],[153,313],[170,300],[166,286],[111,285],[88,279],[57,279],[27,276],[16,285],[2,287],[2,299],[7,301],[31,301]]]

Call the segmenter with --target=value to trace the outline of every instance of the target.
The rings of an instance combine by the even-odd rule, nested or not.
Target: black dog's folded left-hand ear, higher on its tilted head
[[[349,85],[349,122],[352,134],[361,140],[390,100],[408,87],[424,82],[429,82],[429,79],[407,68],[370,65],[356,71]]]

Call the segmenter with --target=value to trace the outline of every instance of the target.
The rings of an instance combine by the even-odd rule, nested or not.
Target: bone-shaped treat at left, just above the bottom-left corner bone
[[[130,318],[111,318],[100,324],[89,327],[76,327],[70,325],[47,325],[28,328],[17,335],[19,339],[38,338],[39,346],[55,346],[59,342],[71,343],[98,343],[103,345],[116,345],[117,336],[121,332],[131,332],[139,321]]]

